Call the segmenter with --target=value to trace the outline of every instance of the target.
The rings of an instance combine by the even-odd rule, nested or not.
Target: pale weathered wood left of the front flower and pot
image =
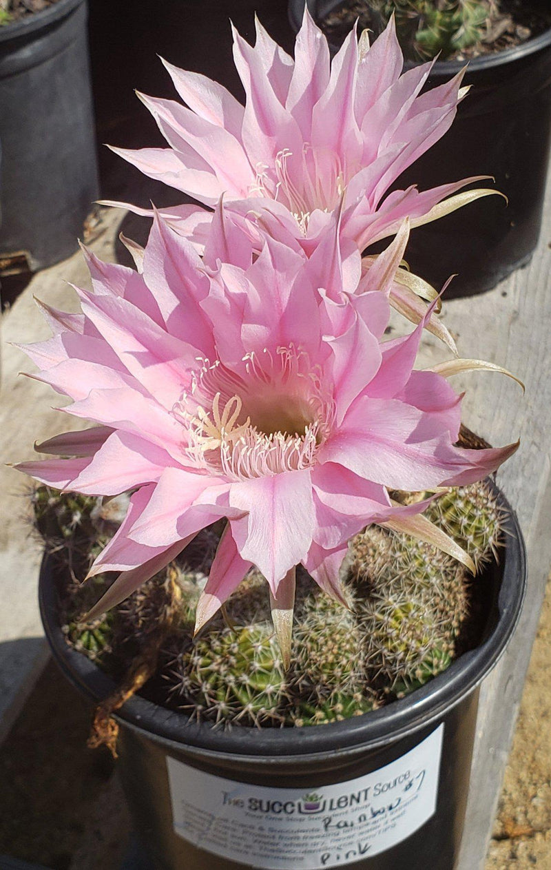
[[[91,245],[104,259],[113,258],[113,240],[123,212],[104,210],[102,235]],[[82,421],[52,412],[65,405],[47,386],[20,371],[34,366],[23,351],[10,345],[50,337],[50,329],[34,302],[36,295],[55,308],[77,309],[69,282],[88,286],[90,276],[82,254],[52,266],[32,278],[24,292],[0,318],[2,381],[0,383],[0,740],[9,731],[27,693],[46,660],[37,604],[37,578],[42,545],[31,534],[30,480],[4,465],[33,456],[35,440],[43,441],[64,426],[82,428]]]

